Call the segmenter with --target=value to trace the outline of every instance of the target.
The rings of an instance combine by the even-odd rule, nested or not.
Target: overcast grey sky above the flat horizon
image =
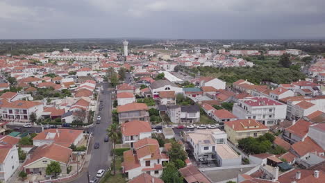
[[[324,38],[325,0],[0,0],[0,39]]]

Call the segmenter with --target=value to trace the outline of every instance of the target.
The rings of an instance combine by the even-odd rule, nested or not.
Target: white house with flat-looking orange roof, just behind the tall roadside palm
[[[151,125],[147,121],[129,121],[127,123],[122,123],[121,125],[122,132],[122,142],[133,143],[140,139],[151,138]]]

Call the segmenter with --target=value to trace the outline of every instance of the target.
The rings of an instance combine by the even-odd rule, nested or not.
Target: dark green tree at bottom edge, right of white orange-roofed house
[[[183,177],[178,173],[178,170],[173,162],[169,162],[167,167],[163,169],[161,179],[165,183],[183,183]]]

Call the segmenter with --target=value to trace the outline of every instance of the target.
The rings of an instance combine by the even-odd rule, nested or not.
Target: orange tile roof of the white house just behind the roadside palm
[[[151,125],[147,121],[130,121],[121,125],[124,136],[139,135],[142,132],[151,132]]]

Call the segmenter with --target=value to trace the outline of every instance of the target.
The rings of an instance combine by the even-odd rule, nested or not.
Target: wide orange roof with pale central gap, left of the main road
[[[33,140],[53,140],[53,143],[69,147],[81,134],[83,134],[82,130],[48,129],[40,132]]]

